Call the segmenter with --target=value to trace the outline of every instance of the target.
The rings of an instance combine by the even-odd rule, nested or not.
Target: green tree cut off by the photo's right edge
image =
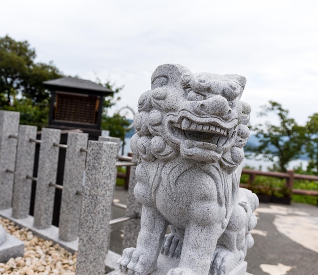
[[[309,157],[306,172],[318,175],[318,113],[309,116],[306,123],[306,137],[305,150]]]

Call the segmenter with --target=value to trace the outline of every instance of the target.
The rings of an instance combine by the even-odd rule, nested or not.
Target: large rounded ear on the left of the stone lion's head
[[[164,64],[157,67],[151,77],[151,89],[180,83],[181,75],[192,73],[188,68],[178,64]]]

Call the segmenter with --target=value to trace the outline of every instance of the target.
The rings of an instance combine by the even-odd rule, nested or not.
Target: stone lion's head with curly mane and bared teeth
[[[240,101],[245,83],[236,74],[193,74],[180,65],[159,66],[151,90],[139,98],[134,154],[147,162],[181,157],[235,170],[249,137],[251,109]]]

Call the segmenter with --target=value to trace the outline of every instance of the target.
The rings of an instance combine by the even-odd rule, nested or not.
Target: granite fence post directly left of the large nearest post
[[[83,189],[88,134],[68,134],[65,168],[63,176],[63,191],[59,216],[59,238],[72,241],[78,237],[82,196],[76,194]]]

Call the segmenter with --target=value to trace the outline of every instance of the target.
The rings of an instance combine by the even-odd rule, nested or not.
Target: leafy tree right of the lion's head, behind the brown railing
[[[288,164],[302,154],[306,140],[305,128],[299,126],[294,118],[290,118],[289,111],[277,102],[270,101],[269,106],[261,108],[259,116],[274,113],[278,116],[279,125],[272,125],[267,121],[264,125],[252,127],[251,130],[256,131],[260,144],[248,150],[256,155],[262,154],[264,159],[272,161],[274,170],[285,172]]]

